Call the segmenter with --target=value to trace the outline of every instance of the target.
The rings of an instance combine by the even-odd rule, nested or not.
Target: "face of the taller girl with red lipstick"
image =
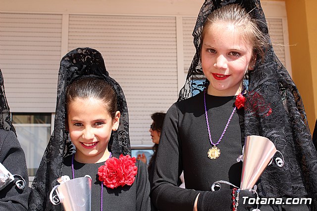
[[[208,94],[238,95],[246,71],[252,70],[255,59],[252,45],[232,24],[213,23],[206,29],[201,47],[202,68],[210,81]]]

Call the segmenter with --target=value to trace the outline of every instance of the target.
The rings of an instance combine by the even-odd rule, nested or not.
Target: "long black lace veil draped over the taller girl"
[[[203,25],[213,10],[229,3],[242,5],[257,20],[259,29],[269,37],[260,0],[205,0],[193,32],[196,54],[178,101],[201,92],[204,83],[208,83],[208,80],[203,84],[195,82],[204,78],[199,65]],[[283,167],[272,163],[265,169],[258,182],[259,194],[274,198],[308,195],[313,200],[313,210],[317,210],[317,153],[304,105],[297,87],[275,55],[270,41],[263,60],[257,56],[255,68],[249,72],[248,82],[245,136],[267,137],[285,158]]]

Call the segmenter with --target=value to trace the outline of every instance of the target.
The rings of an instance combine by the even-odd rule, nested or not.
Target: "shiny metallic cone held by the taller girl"
[[[251,190],[276,153],[274,144],[262,136],[247,136],[244,142],[241,190]]]

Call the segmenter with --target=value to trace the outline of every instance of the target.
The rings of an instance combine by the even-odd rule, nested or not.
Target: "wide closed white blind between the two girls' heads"
[[[68,45],[103,54],[127,100],[131,145],[153,145],[151,114],[178,97],[175,17],[69,15]]]

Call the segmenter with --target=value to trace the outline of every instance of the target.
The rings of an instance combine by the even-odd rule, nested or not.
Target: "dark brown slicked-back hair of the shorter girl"
[[[86,77],[81,78],[70,85],[66,89],[66,109],[77,98],[99,99],[104,102],[105,108],[111,118],[114,118],[117,111],[117,97],[111,85],[100,78]]]

